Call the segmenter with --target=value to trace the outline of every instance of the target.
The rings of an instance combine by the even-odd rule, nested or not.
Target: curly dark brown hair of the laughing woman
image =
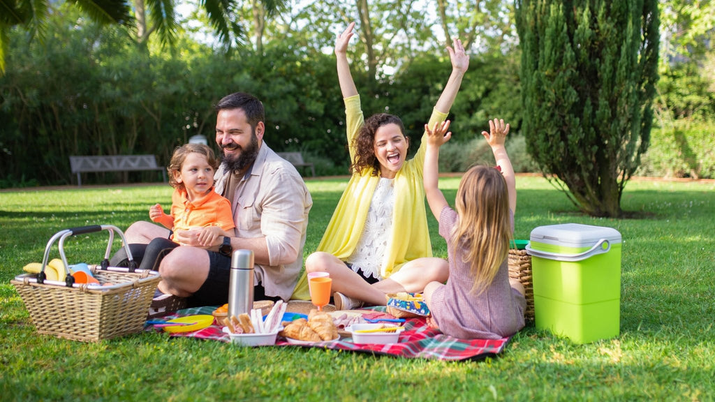
[[[400,117],[394,114],[378,113],[365,119],[365,124],[360,127],[358,136],[352,141],[355,148],[355,160],[350,165],[350,174],[362,174],[365,169],[373,168],[373,176],[380,175],[380,161],[375,157],[375,132],[386,124],[397,124],[405,139],[405,124]]]

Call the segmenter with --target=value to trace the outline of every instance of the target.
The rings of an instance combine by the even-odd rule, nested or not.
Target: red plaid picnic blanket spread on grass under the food
[[[365,318],[392,318],[384,313],[385,307],[368,308]],[[211,314],[215,307],[187,308],[179,310],[163,319],[183,317],[185,315]],[[353,352],[370,353],[373,355],[386,355],[402,358],[425,358],[447,361],[480,360],[488,356],[496,356],[509,341],[501,339],[458,339],[440,333],[439,330],[429,328],[425,318],[409,318],[405,321],[405,330],[400,333],[398,343],[388,345],[355,344],[351,338],[341,338],[330,342],[317,342],[310,345],[294,345],[283,338],[278,338],[276,346],[290,346],[301,348],[327,348],[335,350],[350,350]],[[152,325],[147,325],[147,330],[157,330]],[[223,332],[222,327],[216,322],[202,330],[186,333],[172,333],[171,336],[218,340],[230,342],[229,335]]]

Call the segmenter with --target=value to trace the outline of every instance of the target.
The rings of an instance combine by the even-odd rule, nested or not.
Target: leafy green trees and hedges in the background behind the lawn
[[[453,140],[443,169],[464,170],[478,161],[479,133],[489,118],[510,122],[510,147],[521,149],[521,49],[511,1],[403,1],[399,7],[386,0],[288,3],[264,14],[260,46],[252,4],[261,2],[232,9],[245,30],[234,38],[242,46],[232,52],[215,39],[206,9],[192,1],[185,5],[193,11],[177,19],[173,46],[164,46],[160,35],[138,44],[132,28],[98,26],[61,2],[49,5],[42,40],[22,26],[10,29],[6,72],[0,76],[0,187],[70,184],[75,179],[69,155],[149,153],[166,164],[173,148],[195,134],[212,144],[212,104],[237,90],[265,102],[270,147],[303,152],[318,175],[345,174],[344,112],[332,44],[353,20],[359,21],[358,37],[350,60],[366,114],[398,114],[416,149],[450,71],[444,50],[450,34],[465,41],[472,58],[450,115]],[[365,22],[359,4],[368,5]],[[653,155],[646,153],[638,174],[713,177],[715,63],[708,45],[711,23],[704,21],[710,14],[698,14],[692,4],[661,3],[674,11],[668,14],[674,18],[664,20],[664,30],[673,34],[664,41],[669,55],[661,56],[666,62]],[[712,8],[699,4],[707,4],[704,11]],[[682,52],[687,46],[697,52]],[[681,147],[675,152],[681,156],[672,157],[673,144]],[[490,162],[489,155],[485,159]],[[518,162],[519,170],[533,170],[528,155],[519,155]],[[88,184],[119,180],[159,180],[159,175],[83,177]]]

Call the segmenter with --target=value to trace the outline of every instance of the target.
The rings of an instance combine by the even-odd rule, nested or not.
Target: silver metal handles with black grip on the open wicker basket
[[[102,230],[107,230],[109,232],[109,242],[107,242],[107,250],[104,253],[104,260],[102,260],[101,263],[102,270],[107,270],[107,268],[109,268],[109,255],[112,253],[114,232],[117,232],[119,237],[122,239],[124,251],[127,253],[127,260],[129,261],[129,272],[133,273],[137,269],[137,263],[134,261],[134,257],[132,256],[132,250],[129,250],[129,244],[127,243],[127,238],[124,237],[124,232],[122,232],[122,230],[119,230],[119,227],[116,227],[114,225],[89,225],[60,230],[50,238],[49,242],[47,242],[47,245],[45,247],[44,257],[42,258],[42,269],[40,270],[39,275],[37,275],[37,283],[44,283],[44,280],[46,279],[46,274],[44,273],[44,270],[47,266],[47,262],[49,261],[49,252],[54,242],[59,239],[59,255],[62,260],[62,265],[64,265],[64,272],[66,274],[64,281],[66,286],[68,288],[71,288],[74,284],[74,276],[69,273],[69,265],[67,264],[67,258],[64,254],[64,240],[69,236],[101,232]]]

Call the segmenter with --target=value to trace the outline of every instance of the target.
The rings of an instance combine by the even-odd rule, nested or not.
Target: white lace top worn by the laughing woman
[[[365,220],[363,234],[360,235],[358,245],[347,258],[347,263],[352,264],[352,270],[363,270],[368,277],[382,280],[380,268],[385,259],[385,250],[390,244],[393,226],[393,208],[395,207],[395,186],[393,179],[380,177],[378,187],[375,188],[373,200],[370,201],[368,219]]]

